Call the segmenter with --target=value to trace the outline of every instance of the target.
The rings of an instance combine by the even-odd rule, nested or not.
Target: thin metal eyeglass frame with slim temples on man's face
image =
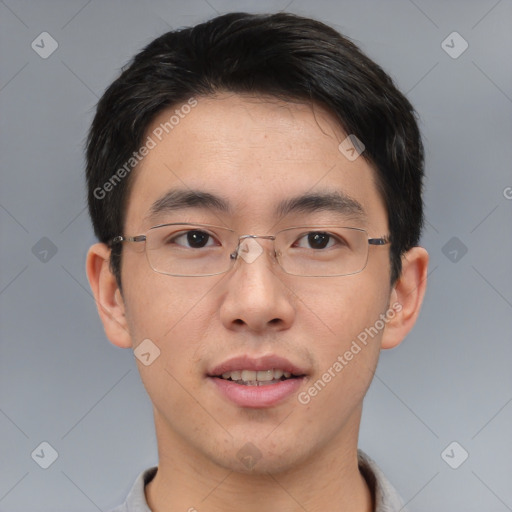
[[[114,245],[120,244],[122,242],[146,242],[147,241],[147,234],[148,234],[149,231],[151,231],[152,229],[163,228],[163,227],[166,227],[166,226],[195,226],[195,227],[206,227],[206,228],[218,228],[218,229],[222,229],[224,231],[231,231],[231,233],[233,233],[234,235],[237,235],[237,233],[236,233],[236,231],[234,229],[227,228],[227,227],[224,227],[224,226],[215,226],[213,224],[200,224],[200,223],[192,223],[192,222],[170,222],[170,223],[157,224],[155,226],[151,226],[146,231],[146,233],[141,234],[141,235],[134,235],[134,236],[117,235],[117,236],[113,237],[111,240],[108,241],[108,246],[110,248],[112,248]],[[283,268],[282,263],[279,261],[279,257],[278,257],[278,254],[277,254],[276,250],[275,250],[275,245],[274,245],[275,244],[276,236],[279,235],[279,233],[282,233],[284,231],[289,231],[289,230],[292,230],[292,229],[307,229],[307,228],[324,229],[324,228],[334,228],[334,227],[342,228],[342,229],[352,229],[354,231],[360,231],[360,232],[365,233],[366,236],[368,237],[367,238],[368,245],[384,246],[384,245],[387,245],[387,244],[391,244],[391,237],[389,235],[386,235],[386,236],[383,236],[383,237],[378,237],[378,238],[373,238],[373,237],[370,237],[368,235],[368,232],[366,231],[366,229],[363,229],[363,228],[356,228],[356,227],[352,227],[352,226],[334,226],[334,225],[328,225],[328,226],[292,226],[292,227],[289,227],[289,228],[281,229],[280,231],[278,231],[274,235],[252,235],[252,234],[239,235],[237,237],[238,238],[238,244],[237,244],[235,250],[229,255],[229,258],[232,261],[231,266],[228,269],[226,269],[226,270],[224,270],[222,272],[215,272],[213,274],[199,274],[199,275],[194,275],[194,274],[184,274],[184,275],[183,274],[169,274],[169,273],[166,273],[166,272],[160,272],[158,270],[155,270],[152,267],[152,265],[151,265],[151,263],[149,261],[149,256],[148,256],[148,252],[147,252],[146,247],[144,247],[144,252],[146,253],[146,260],[147,260],[147,262],[149,264],[149,268],[151,268],[151,270],[153,270],[153,272],[156,272],[157,274],[161,274],[161,275],[164,275],[164,276],[172,276],[172,277],[211,277],[211,276],[218,276],[218,275],[226,274],[227,272],[229,272],[234,267],[234,264],[235,264],[236,260],[239,257],[240,242],[242,240],[263,238],[264,240],[272,240],[272,242],[273,242],[274,257],[275,257],[278,265],[281,267],[281,269],[283,270],[283,272],[285,274],[296,276],[296,277],[345,277],[345,276],[351,276],[351,275],[355,275],[355,274],[361,273],[366,268],[366,266],[368,265],[369,252],[367,252],[366,261],[365,261],[365,264],[364,264],[363,268],[361,268],[357,272],[350,272],[348,274],[335,274],[335,275],[328,275],[328,276],[302,275],[302,274],[293,274],[293,273],[287,272]]]

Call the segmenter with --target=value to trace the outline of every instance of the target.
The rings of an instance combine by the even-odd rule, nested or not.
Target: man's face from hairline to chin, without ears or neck
[[[340,152],[347,134],[328,113],[235,94],[197,100],[161,141],[153,136],[156,147],[132,176],[123,234],[173,222],[225,226],[239,235],[310,225],[388,234],[374,171],[362,157],[350,161]],[[175,108],[162,112],[148,134]],[[149,215],[170,191],[191,190],[220,198],[229,211],[196,205]],[[284,216],[278,210],[301,196],[333,193],[357,201],[364,214],[318,204]],[[357,441],[382,330],[366,346],[359,343],[341,370],[332,368],[390,306],[389,246],[371,246],[358,274],[299,277],[276,263],[271,240],[256,240],[263,252],[254,261],[239,258],[229,272],[209,277],[156,273],[144,243],[124,244],[122,298],[133,347],[150,339],[160,349],[152,364],[138,362],[160,449],[237,471],[248,468],[249,455],[254,471],[275,472]],[[233,358],[246,359],[232,368]],[[252,388],[226,384],[215,371],[226,362],[232,370],[288,365],[303,376]],[[334,376],[311,396],[308,389],[329,368]]]

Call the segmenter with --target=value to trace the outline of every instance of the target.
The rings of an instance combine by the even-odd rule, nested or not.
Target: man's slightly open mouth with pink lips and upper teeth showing
[[[298,392],[306,371],[278,356],[247,356],[230,359],[207,374],[223,398],[239,407],[278,405]]]

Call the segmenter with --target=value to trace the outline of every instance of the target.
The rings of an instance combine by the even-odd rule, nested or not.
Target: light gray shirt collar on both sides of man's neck
[[[375,502],[375,512],[407,512],[400,496],[388,482],[377,464],[363,451],[358,450],[359,470],[364,476]],[[144,487],[156,475],[158,466],[146,469],[135,481],[126,501],[110,512],[151,512]]]

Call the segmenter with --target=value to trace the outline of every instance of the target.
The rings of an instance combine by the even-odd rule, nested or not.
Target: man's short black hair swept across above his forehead
[[[130,167],[153,119],[217,92],[326,108],[363,142],[387,209],[391,283],[423,227],[424,155],[416,113],[392,79],[333,28],[291,13],[229,13],[163,34],[98,102],[86,147],[89,212],[103,243],[123,233]],[[132,159],[132,160],[130,160]],[[130,164],[130,165],[132,165]],[[124,172],[122,171],[124,169]],[[121,246],[110,265],[121,286]]]

